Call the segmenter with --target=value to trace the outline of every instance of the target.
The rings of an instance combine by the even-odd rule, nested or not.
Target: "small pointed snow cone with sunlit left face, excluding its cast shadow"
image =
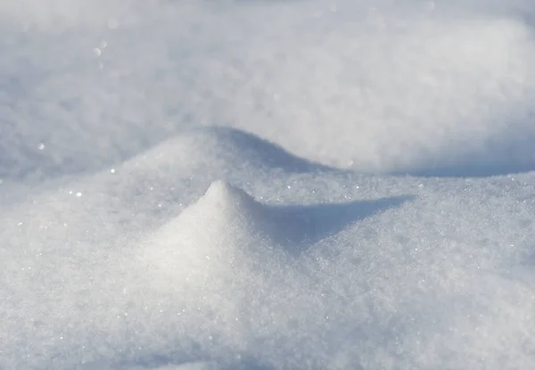
[[[206,266],[206,261],[230,257],[227,253],[256,237],[269,237],[268,212],[250,195],[224,181],[216,181],[199,201],[171,220],[158,235],[154,263],[169,271]],[[155,242],[155,241],[153,241]],[[163,245],[167,248],[162,249]],[[151,248],[151,253],[156,248]],[[211,262],[210,262],[211,263]],[[180,264],[182,268],[178,268]]]

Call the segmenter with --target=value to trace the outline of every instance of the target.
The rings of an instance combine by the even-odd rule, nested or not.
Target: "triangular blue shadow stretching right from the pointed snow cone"
[[[272,234],[282,235],[276,241],[291,247],[289,252],[300,254],[308,247],[341,232],[348,226],[374,214],[398,208],[414,195],[401,195],[374,201],[350,201],[306,206],[276,206],[270,210],[276,221]]]

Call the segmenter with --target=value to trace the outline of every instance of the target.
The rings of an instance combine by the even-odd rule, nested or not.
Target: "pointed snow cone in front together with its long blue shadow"
[[[187,268],[207,271],[215,261],[231,262],[235,252],[261,247],[299,255],[306,247],[341,232],[359,219],[399,207],[408,196],[375,201],[274,206],[256,201],[224,180],[168,222],[150,249],[156,267],[175,274]],[[178,267],[181,266],[181,267]]]

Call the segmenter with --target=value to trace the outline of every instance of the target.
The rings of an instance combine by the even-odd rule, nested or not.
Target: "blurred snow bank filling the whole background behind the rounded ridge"
[[[0,8],[21,18],[0,45],[2,177],[103,169],[199,125],[365,172],[534,169],[526,2],[19,3]]]

